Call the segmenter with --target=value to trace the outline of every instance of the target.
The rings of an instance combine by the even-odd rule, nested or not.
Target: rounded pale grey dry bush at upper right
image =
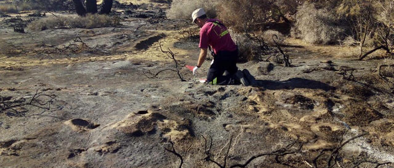
[[[329,44],[340,39],[344,29],[339,24],[332,11],[305,3],[298,8],[292,35],[312,44]]]

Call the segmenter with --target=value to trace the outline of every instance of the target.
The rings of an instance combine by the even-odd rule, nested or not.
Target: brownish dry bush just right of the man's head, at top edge
[[[269,0],[228,0],[219,8],[219,18],[237,32],[249,32],[262,27],[271,16]]]

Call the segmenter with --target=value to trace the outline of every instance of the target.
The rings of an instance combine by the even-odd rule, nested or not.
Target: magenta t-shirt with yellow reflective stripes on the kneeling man
[[[217,54],[218,51],[235,51],[237,46],[234,41],[232,41],[227,27],[209,21],[222,23],[218,19],[207,20],[200,29],[199,48],[208,48],[208,45],[210,45],[215,54]]]

